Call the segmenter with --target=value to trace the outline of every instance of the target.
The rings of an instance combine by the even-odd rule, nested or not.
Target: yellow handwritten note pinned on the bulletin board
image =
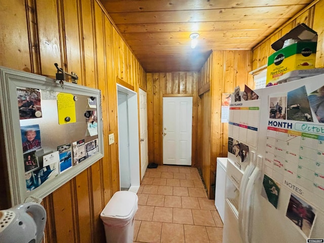
[[[57,95],[57,112],[59,124],[75,123],[75,101],[74,95],[59,93]]]

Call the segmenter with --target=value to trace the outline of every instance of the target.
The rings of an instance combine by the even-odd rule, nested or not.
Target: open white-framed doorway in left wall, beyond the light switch
[[[137,193],[140,154],[137,93],[117,84],[120,190]]]

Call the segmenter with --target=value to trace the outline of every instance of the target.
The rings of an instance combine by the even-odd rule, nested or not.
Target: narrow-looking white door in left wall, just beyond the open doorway
[[[148,165],[148,141],[147,141],[147,94],[140,90],[140,139],[141,139],[141,178],[145,174]]]

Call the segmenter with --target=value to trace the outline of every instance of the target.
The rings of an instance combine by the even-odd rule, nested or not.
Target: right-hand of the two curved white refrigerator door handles
[[[243,209],[243,216],[242,216],[242,239],[244,243],[249,243],[250,239],[249,239],[249,225],[250,225],[250,208],[251,208],[251,197],[252,197],[252,193],[254,191],[254,187],[255,187],[255,182],[260,178],[261,176],[261,170],[260,168],[257,166],[247,185],[246,191],[245,191],[245,204],[244,204],[244,209]]]

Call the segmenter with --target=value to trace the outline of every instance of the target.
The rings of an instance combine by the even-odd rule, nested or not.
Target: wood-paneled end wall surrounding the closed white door
[[[192,96],[191,166],[197,158],[197,72],[147,73],[148,161],[163,165],[163,97]]]

